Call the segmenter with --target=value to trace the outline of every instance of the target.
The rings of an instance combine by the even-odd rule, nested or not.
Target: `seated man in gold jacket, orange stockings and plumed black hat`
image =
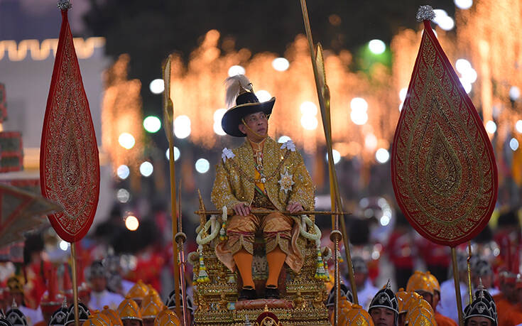
[[[234,150],[224,148],[216,168],[212,202],[218,209],[234,212],[228,219],[228,240],[216,246],[216,255],[231,270],[239,269],[243,280],[239,300],[256,298],[252,260],[254,238],[261,231],[268,261],[265,298],[278,298],[283,264],[295,272],[303,266],[297,241],[299,222],[283,212],[313,210],[314,187],[292,141],[277,143],[268,137],[275,97],[259,102],[243,75],[229,77],[226,83],[229,109],[222,119],[223,130],[246,140]],[[255,215],[253,210],[276,212]]]

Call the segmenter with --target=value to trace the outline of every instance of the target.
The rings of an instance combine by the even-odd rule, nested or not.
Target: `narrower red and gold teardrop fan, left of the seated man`
[[[62,7],[60,7],[62,6]],[[87,234],[99,197],[99,158],[89,103],[67,20],[62,12],[60,39],[43,121],[40,146],[42,194],[64,210],[49,216],[56,233],[75,242]]]

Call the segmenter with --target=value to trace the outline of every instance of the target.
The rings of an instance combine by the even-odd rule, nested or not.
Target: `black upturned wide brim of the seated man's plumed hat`
[[[266,102],[245,103],[231,107],[227,112],[225,112],[221,119],[221,127],[223,131],[234,137],[246,136],[239,130],[239,124],[243,123],[241,119],[248,114],[256,112],[263,112],[268,117],[272,113],[273,104],[275,102],[276,97],[272,97]]]

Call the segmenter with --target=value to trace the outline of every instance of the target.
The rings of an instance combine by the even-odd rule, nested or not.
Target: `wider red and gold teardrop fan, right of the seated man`
[[[424,33],[393,138],[391,179],[410,224],[423,237],[455,247],[489,222],[498,188],[496,163],[482,120],[430,17],[420,18]]]

